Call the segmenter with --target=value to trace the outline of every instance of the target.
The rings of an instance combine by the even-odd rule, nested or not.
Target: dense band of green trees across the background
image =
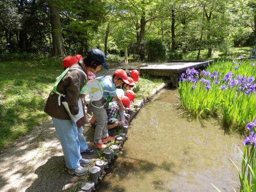
[[[255,0],[1,0],[0,54],[160,60],[256,45]]]

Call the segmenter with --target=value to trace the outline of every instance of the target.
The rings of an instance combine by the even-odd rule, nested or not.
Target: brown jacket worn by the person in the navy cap
[[[80,59],[77,64],[72,65],[70,68],[79,68],[86,73],[83,59]],[[78,114],[78,98],[82,86],[84,84],[85,76],[80,70],[69,70],[62,78],[57,86],[57,91],[66,95],[66,100],[70,108],[70,112],[73,115]],[[50,92],[50,95],[46,101],[44,112],[54,118],[68,120],[70,117],[66,112],[64,106],[58,105],[58,94]],[[60,102],[64,100],[64,97],[60,97]]]

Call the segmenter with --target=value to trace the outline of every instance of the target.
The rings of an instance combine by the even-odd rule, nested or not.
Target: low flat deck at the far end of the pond
[[[172,81],[172,86],[178,86],[180,74],[185,72],[187,68],[204,68],[213,60],[192,60],[192,61],[169,61],[166,63],[146,63],[147,66],[140,67],[140,74],[148,74],[150,76],[167,76]],[[122,68],[125,69],[125,68]],[[138,67],[130,66],[129,70]]]

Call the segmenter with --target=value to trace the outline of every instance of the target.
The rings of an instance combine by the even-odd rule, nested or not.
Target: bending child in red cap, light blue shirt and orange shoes
[[[92,101],[92,112],[94,115],[95,133],[94,133],[94,147],[103,149],[106,147],[104,143],[114,139],[114,137],[108,136],[108,116],[106,109],[108,108],[107,102],[114,97],[116,102],[120,105],[120,110],[125,110],[120,98],[116,95],[116,86],[120,86],[123,82],[129,83],[127,80],[127,74],[124,70],[118,69],[114,72],[114,75],[103,76],[96,78],[102,84],[104,88],[103,96],[98,101]]]

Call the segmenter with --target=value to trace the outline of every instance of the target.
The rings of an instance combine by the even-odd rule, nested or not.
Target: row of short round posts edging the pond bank
[[[160,90],[162,90],[166,86],[167,83],[162,83],[160,86],[152,90],[149,97],[138,101],[138,104],[136,104],[136,108],[134,108],[133,110],[128,110],[128,114],[130,114],[128,122],[130,123],[132,121],[132,119],[136,116],[136,114],[138,114],[138,112],[140,111],[142,106],[146,104],[146,102],[150,101],[153,96],[155,96]],[[107,161],[104,162],[102,160],[97,160],[95,166],[89,169],[90,182],[83,183],[81,185],[80,192],[92,192],[95,189],[95,185],[98,183],[98,178],[100,178],[100,175],[104,172],[104,169],[106,169],[111,163],[111,160],[114,159],[115,154],[119,152],[120,146],[124,144],[124,139],[126,137],[127,131],[128,128],[124,128],[124,133],[120,133],[119,136],[116,136],[116,140],[120,141],[118,145],[112,145],[110,146],[110,149],[104,150],[103,155]]]

